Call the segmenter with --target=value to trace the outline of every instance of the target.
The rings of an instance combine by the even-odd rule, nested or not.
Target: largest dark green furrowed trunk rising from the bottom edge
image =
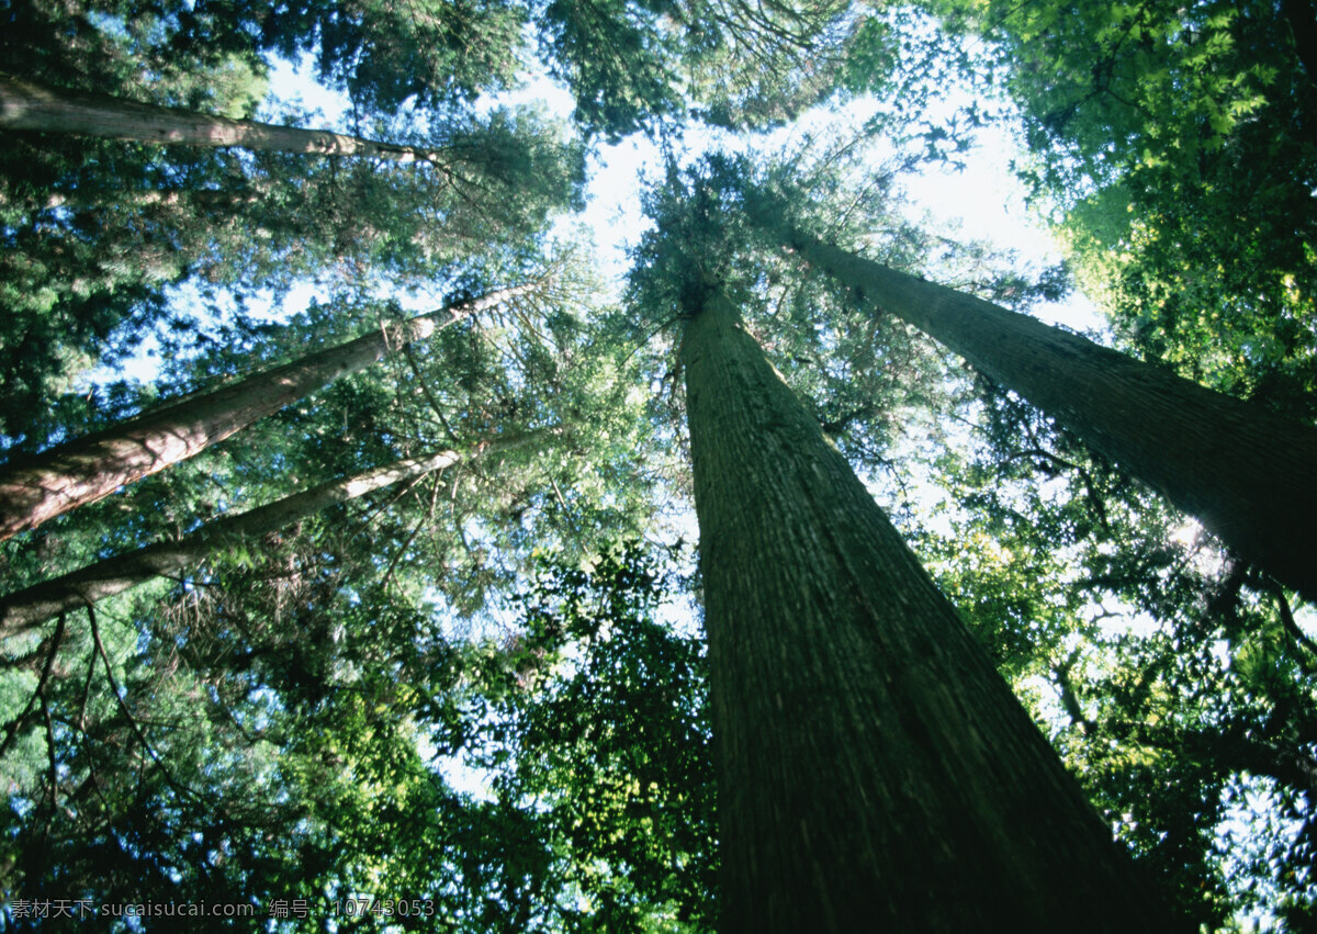
[[[687,311],[720,930],[1173,930],[728,299]]]

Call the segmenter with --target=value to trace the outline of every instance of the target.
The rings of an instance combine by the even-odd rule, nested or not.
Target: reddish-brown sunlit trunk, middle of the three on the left
[[[531,287],[452,304],[0,466],[0,540],[187,460],[308,393],[378,362],[391,348],[423,340]]]

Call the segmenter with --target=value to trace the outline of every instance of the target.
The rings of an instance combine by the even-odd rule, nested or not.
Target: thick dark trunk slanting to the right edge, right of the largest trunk
[[[1317,429],[802,232],[788,242],[1317,599]]]

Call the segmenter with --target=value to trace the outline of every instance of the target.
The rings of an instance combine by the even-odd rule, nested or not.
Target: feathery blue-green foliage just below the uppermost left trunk
[[[452,158],[440,167],[306,165],[304,157],[262,153],[225,157],[233,171],[213,188],[204,174],[194,188],[170,148],[132,191],[113,191],[100,169],[117,166],[122,153],[58,141],[88,161],[38,178],[50,183],[45,194],[14,198],[7,231],[14,249],[5,253],[13,278],[0,290],[12,312],[0,356],[0,426],[29,451],[45,447],[50,432],[34,400],[86,365],[82,354],[132,345],[153,325],[195,328],[188,314],[163,308],[165,286],[182,279],[213,292],[238,278],[252,288],[286,288],[317,271],[340,281],[415,279],[456,274],[473,253],[497,262],[494,250],[520,242],[577,198],[582,153],[556,136],[532,113],[495,111],[443,128]],[[21,144],[29,167],[54,157],[47,145],[30,144]],[[128,321],[134,327],[124,328]]]

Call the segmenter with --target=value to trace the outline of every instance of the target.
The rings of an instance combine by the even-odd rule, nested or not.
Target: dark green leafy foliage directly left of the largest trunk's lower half
[[[486,656],[502,690],[477,760],[545,834],[560,894],[544,910],[568,930],[712,926],[703,644],[656,619],[676,578],[652,560],[632,543],[545,564],[525,630]]]

